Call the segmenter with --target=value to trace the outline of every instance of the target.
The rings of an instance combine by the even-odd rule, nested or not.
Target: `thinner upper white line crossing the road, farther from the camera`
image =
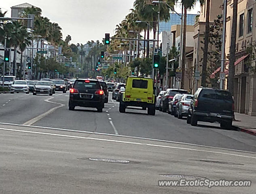
[[[129,136],[129,135],[116,135],[111,133],[97,133],[97,132],[91,132],[91,131],[79,131],[79,130],[72,130],[72,129],[63,129],[63,128],[54,128],[54,127],[41,127],[41,126],[30,126],[25,124],[15,124],[15,123],[6,123],[6,122],[0,122],[0,124],[6,124],[6,125],[13,125],[13,126],[22,126],[22,127],[30,127],[30,128],[38,128],[38,129],[51,129],[51,130],[58,130],[58,131],[71,131],[71,132],[77,132],[77,133],[88,133],[88,134],[95,134],[95,135],[108,135],[108,136],[116,136],[116,137],[127,137],[131,139],[143,139],[143,140],[150,140],[150,141],[159,141],[164,143],[176,143],[186,146],[197,146],[201,148],[213,148],[213,149],[220,149],[220,150],[227,150],[227,151],[234,151],[234,152],[243,152],[243,153],[249,153],[249,154],[256,154],[256,152],[248,152],[244,150],[236,150],[236,149],[228,149],[228,148],[220,148],[220,147],[214,147],[214,146],[203,146],[200,144],[193,144],[193,143],[184,143],[179,141],[168,141],[168,140],[162,140],[162,139],[151,139],[146,137],[135,137],[135,136]]]

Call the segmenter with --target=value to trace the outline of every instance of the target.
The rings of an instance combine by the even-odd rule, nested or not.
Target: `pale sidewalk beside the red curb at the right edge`
[[[235,120],[233,126],[238,127],[240,131],[250,133],[256,136],[256,117],[247,114],[235,112]]]

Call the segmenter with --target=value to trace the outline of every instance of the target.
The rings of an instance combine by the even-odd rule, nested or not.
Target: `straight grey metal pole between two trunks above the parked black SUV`
[[[223,30],[222,30],[222,48],[221,48],[221,66],[220,66],[220,89],[223,89],[224,85],[224,65],[225,65],[225,43],[226,43],[226,8],[227,0],[224,0],[224,16],[223,16]],[[224,74],[224,76],[223,76]]]

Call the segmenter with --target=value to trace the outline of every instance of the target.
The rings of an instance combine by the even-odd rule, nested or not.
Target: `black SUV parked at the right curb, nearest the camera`
[[[212,88],[199,88],[188,109],[187,123],[197,121],[220,122],[222,129],[231,129],[234,116],[234,101],[230,92]]]

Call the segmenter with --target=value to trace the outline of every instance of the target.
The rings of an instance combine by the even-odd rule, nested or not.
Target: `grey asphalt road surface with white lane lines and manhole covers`
[[[252,193],[159,187],[176,175],[256,181],[256,137],[167,113],[68,110],[68,93],[0,94],[0,193]],[[89,158],[128,160],[127,164]],[[167,174],[167,175],[166,175]]]

